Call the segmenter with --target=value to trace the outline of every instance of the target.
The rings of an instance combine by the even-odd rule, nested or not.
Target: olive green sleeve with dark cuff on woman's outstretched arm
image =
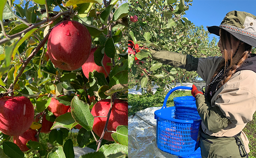
[[[198,58],[188,54],[180,54],[170,51],[155,51],[149,49],[152,53],[152,59],[174,67],[186,69],[187,71],[197,71]]]

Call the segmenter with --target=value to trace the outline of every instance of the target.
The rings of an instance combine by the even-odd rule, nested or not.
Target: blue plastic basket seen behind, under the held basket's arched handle
[[[194,96],[179,96],[173,98],[174,106],[197,108]]]

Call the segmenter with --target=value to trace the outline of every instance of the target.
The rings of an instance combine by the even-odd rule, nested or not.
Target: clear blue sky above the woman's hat
[[[256,0],[193,0],[186,11],[188,18],[196,26],[219,26],[227,12],[244,11],[256,16]],[[216,35],[209,35],[210,40]]]

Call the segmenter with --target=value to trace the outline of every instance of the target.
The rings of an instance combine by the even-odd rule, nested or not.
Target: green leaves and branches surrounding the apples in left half
[[[106,140],[96,142],[90,110],[101,99],[128,98],[128,12],[125,0],[112,0],[110,4],[101,0],[20,0],[19,4],[5,0],[0,4],[3,29],[0,33],[0,98],[26,96],[35,106],[35,115],[43,113],[48,121],[54,122],[49,134],[39,134],[40,143],[27,143],[30,150],[25,153],[11,142],[9,136],[0,133],[0,157],[71,158],[75,156],[73,146],[96,150],[98,144],[110,145],[109,154],[103,154],[105,150],[102,150],[104,157],[120,156],[120,152],[127,155],[127,144],[118,146]],[[90,72],[86,78],[82,68],[65,71],[56,68],[49,57],[47,59],[49,32],[64,20],[78,21],[88,29],[92,47],[98,48],[97,65],[103,66],[104,52],[111,58],[112,62],[108,63],[111,73],[107,78],[97,71]],[[71,105],[71,113],[56,118],[48,110],[52,98],[66,106]],[[42,119],[40,117],[38,123],[42,123]],[[70,130],[79,124],[84,128],[76,134],[77,139],[68,139]],[[40,141],[42,138],[47,144]],[[97,154],[90,153],[95,157]]]

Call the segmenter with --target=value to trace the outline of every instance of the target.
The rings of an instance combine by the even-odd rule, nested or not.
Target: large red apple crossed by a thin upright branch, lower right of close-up
[[[91,114],[94,116],[93,131],[99,137],[104,130],[107,117],[95,117],[95,116],[107,116],[110,109],[110,99],[102,99],[98,101],[92,108]],[[110,118],[108,122],[108,131],[116,131],[117,126],[128,126],[128,102],[115,99]],[[111,137],[112,132],[106,132],[104,139],[114,141]]]

